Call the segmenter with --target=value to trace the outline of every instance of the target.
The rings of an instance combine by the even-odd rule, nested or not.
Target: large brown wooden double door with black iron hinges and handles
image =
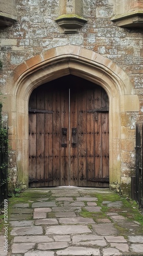
[[[108,96],[68,75],[29,100],[29,187],[109,186]]]

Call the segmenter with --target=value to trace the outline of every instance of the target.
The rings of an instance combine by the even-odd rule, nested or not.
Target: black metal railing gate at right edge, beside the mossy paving
[[[136,124],[135,176],[132,177],[132,199],[143,208],[143,124]]]

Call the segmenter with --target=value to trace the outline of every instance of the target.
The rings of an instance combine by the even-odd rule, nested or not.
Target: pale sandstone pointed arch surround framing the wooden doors
[[[4,110],[9,114],[9,139],[16,155],[14,161],[17,178],[13,183],[28,187],[28,105],[32,91],[45,82],[68,74],[99,84],[107,92],[110,187],[120,189],[122,183],[127,187],[131,178],[130,174],[124,177],[122,157],[124,151],[134,150],[134,138],[129,139],[131,130],[123,119],[128,113],[138,112],[138,96],[134,95],[129,77],[120,67],[108,58],[79,46],[62,46],[42,52],[17,66],[7,80],[8,104],[5,104]],[[126,144],[130,148],[126,148]],[[122,188],[124,190],[123,185]]]

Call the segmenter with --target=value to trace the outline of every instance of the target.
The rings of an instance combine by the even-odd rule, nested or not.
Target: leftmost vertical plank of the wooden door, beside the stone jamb
[[[29,101],[32,109],[36,108],[36,93],[32,94]],[[36,114],[29,113],[29,181],[36,179]],[[33,187],[33,183],[29,183],[29,187]]]

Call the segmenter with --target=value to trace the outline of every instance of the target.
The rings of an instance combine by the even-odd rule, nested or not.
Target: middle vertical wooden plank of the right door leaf
[[[94,178],[94,113],[88,110],[94,109],[94,90],[86,92],[87,101],[87,185],[94,186],[94,182],[88,181]]]

